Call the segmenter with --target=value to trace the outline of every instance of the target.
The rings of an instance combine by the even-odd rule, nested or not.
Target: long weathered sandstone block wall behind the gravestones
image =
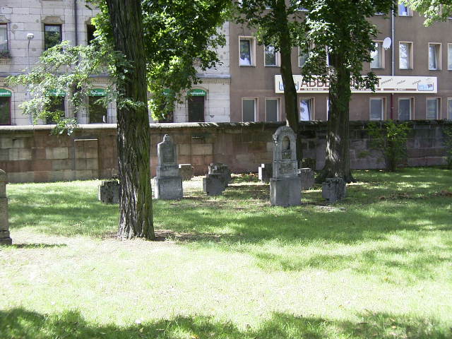
[[[410,121],[408,165],[444,165],[442,130],[452,121]],[[369,150],[367,122],[350,123],[353,169],[383,168],[381,155]],[[151,168],[155,175],[157,143],[165,134],[177,144],[179,163],[191,163],[196,175],[210,162],[224,162],[232,172],[257,172],[271,162],[272,134],[281,124],[151,124]],[[325,162],[326,122],[300,122],[304,157]],[[54,136],[50,126],[0,126],[0,168],[9,182],[55,182],[109,178],[117,174],[116,125],[80,125],[71,136]]]

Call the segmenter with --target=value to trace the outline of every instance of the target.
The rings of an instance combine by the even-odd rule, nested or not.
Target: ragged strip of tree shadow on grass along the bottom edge
[[[97,325],[79,311],[40,314],[23,308],[0,311],[2,339],[448,339],[451,331],[434,319],[396,316],[386,313],[358,315],[359,321],[338,321],[319,317],[273,313],[254,329],[241,330],[230,321],[210,316],[178,316],[169,320],[143,322],[133,326]]]

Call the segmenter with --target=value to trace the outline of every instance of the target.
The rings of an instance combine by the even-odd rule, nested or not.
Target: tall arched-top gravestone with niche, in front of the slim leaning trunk
[[[271,206],[299,206],[302,185],[298,177],[295,133],[289,126],[273,134],[273,177],[270,179]]]

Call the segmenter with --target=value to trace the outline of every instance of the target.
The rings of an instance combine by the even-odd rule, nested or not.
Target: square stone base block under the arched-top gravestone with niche
[[[271,206],[299,206],[302,204],[302,184],[299,177],[270,179]]]

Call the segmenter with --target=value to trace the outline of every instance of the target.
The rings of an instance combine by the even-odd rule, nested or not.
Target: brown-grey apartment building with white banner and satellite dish
[[[426,28],[419,13],[399,5],[392,19],[376,13],[371,20],[379,35],[364,72],[374,71],[380,81],[375,93],[352,90],[350,120],[452,119],[452,18]],[[284,121],[278,53],[259,46],[245,26],[230,25],[230,54],[231,121]],[[299,119],[326,120],[328,84],[303,81],[305,57],[292,50]]]

